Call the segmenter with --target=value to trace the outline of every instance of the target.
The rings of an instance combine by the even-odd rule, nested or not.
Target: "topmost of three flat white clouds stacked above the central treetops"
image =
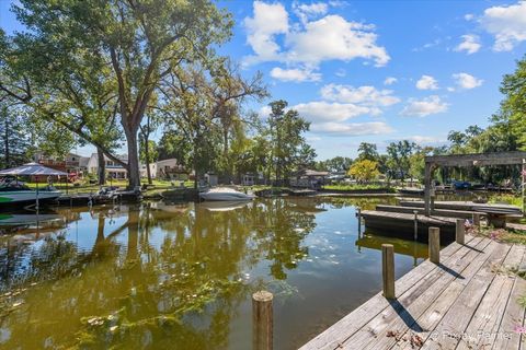
[[[328,84],[321,88],[321,96],[328,101],[359,104],[363,106],[390,106],[400,102],[391,90],[377,90],[374,86],[354,88],[351,85]]]

